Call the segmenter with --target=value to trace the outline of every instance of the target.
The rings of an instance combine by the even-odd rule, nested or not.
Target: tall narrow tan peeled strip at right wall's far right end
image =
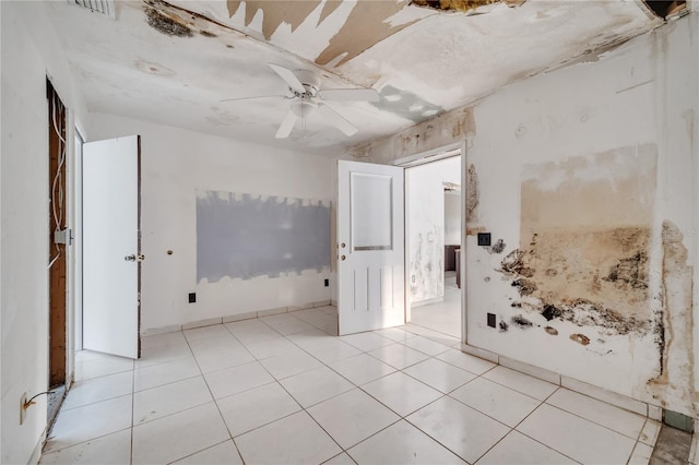
[[[656,393],[675,391],[685,405],[695,402],[694,385],[694,269],[688,265],[684,235],[672,222],[663,222],[663,322],[657,342],[662,344],[659,375],[649,381]],[[670,380],[685,380],[683,383]],[[665,397],[666,396],[660,396]]]

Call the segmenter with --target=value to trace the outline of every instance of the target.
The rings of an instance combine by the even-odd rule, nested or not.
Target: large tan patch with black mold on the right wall
[[[520,248],[498,270],[518,289],[512,307],[609,336],[649,335],[655,178],[654,145],[525,166]]]

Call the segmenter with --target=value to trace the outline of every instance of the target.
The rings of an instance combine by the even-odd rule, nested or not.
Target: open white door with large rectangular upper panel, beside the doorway
[[[340,335],[405,322],[403,168],[337,166]]]

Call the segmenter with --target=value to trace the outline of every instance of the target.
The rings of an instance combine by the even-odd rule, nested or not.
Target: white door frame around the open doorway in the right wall
[[[460,155],[457,155],[455,152],[460,152]],[[405,169],[417,167],[420,165],[427,165],[429,163],[439,162],[445,158],[449,158],[452,156],[461,157],[461,288],[460,288],[460,301],[461,301],[461,343],[466,344],[466,293],[465,293],[465,263],[466,263],[466,215],[464,214],[464,207],[466,205],[466,176],[465,176],[465,167],[466,167],[466,141],[445,145],[442,147],[438,147],[431,151],[410,155],[406,157],[395,159],[392,165],[403,167],[403,177],[405,178]],[[404,194],[407,192],[410,188],[407,180],[404,182]],[[404,195],[407,199],[407,195]],[[404,267],[405,267],[405,322],[410,323],[411,321],[411,307],[412,299],[407,289],[410,289],[410,250],[408,250],[408,240],[407,240],[407,201],[404,203],[405,215],[405,250],[404,250]]]

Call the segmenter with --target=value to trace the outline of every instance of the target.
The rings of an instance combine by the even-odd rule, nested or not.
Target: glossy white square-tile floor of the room
[[[657,421],[423,326],[333,327],[324,307],[82,351],[39,463],[648,463]]]

